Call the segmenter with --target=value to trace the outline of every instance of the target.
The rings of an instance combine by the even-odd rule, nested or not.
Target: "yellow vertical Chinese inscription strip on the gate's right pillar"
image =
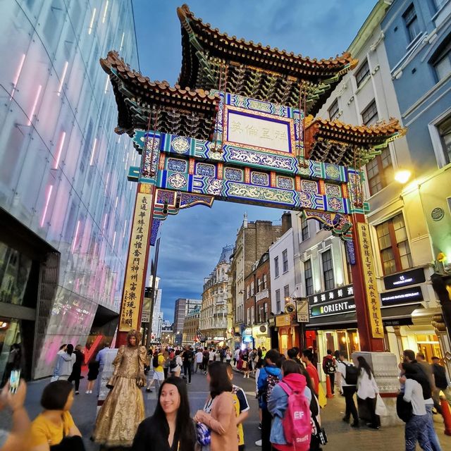
[[[381,307],[379,305],[378,289],[376,286],[373,249],[371,247],[368,224],[357,223],[357,230],[359,231],[359,244],[362,254],[362,268],[366,287],[366,303],[371,323],[371,335],[373,338],[383,338]]]

